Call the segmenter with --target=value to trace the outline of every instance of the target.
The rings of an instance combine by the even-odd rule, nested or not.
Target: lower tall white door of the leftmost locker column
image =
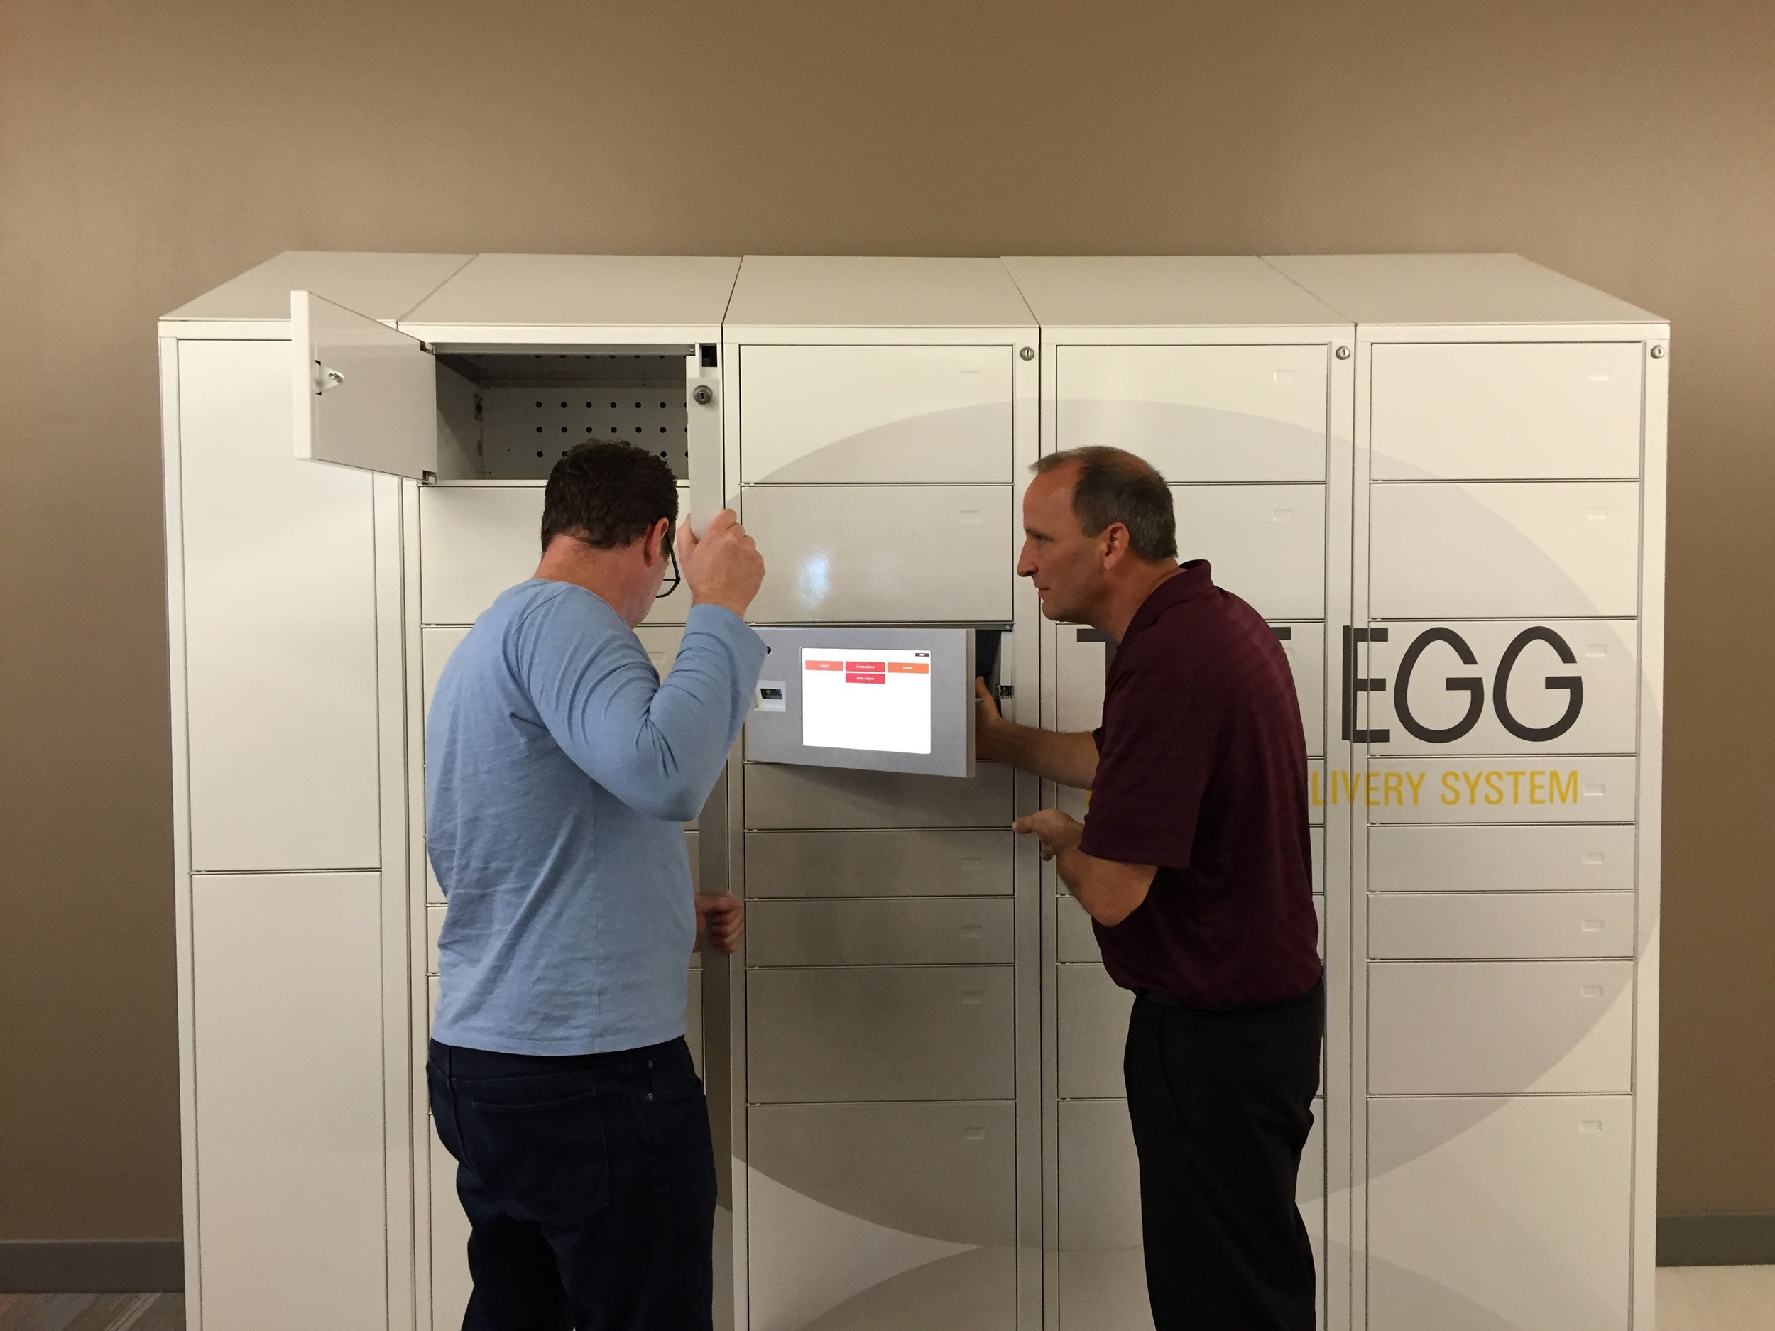
[[[382,1327],[380,875],[195,875],[197,1269],[213,1331]]]

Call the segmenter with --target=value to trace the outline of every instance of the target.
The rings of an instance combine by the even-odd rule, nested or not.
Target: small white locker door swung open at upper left
[[[291,291],[289,348],[298,458],[437,477],[437,367],[424,343],[312,291]]]

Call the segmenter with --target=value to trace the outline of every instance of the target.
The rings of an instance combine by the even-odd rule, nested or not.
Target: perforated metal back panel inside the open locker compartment
[[[481,399],[488,479],[541,479],[575,444],[621,440],[690,474],[682,355],[531,353],[465,358]]]

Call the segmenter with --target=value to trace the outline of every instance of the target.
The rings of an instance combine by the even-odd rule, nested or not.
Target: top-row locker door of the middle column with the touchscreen
[[[1010,481],[1012,357],[1008,346],[740,348],[740,479]]]

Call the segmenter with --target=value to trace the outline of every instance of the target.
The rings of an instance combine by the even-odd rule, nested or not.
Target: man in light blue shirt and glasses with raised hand
[[[472,1226],[465,1331],[710,1326],[715,1166],[683,1004],[698,925],[731,951],[740,903],[692,893],[682,823],[751,706],[763,561],[731,511],[678,532],[692,607],[660,680],[634,626],[676,513],[659,458],[563,456],[536,575],[431,699],[426,839],[449,910],[426,1074]]]

